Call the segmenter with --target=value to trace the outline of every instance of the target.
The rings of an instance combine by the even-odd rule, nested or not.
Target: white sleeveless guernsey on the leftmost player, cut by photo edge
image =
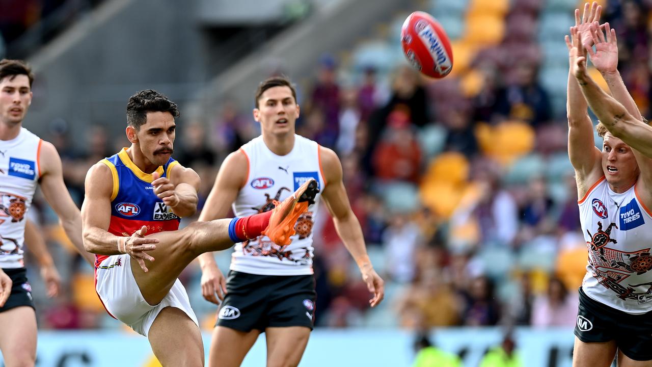
[[[24,127],[0,140],[0,268],[22,268],[25,214],[37,189],[42,140]]]

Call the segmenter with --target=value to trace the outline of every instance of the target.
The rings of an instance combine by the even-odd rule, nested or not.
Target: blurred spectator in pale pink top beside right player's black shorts
[[[532,326],[572,327],[576,322],[577,308],[577,293],[569,293],[559,278],[552,277],[546,294],[535,298]]]

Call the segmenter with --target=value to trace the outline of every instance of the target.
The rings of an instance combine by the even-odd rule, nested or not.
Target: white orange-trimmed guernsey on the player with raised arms
[[[603,176],[578,204],[589,249],[584,293],[627,313],[652,311],[652,212],[636,185],[615,193]]]

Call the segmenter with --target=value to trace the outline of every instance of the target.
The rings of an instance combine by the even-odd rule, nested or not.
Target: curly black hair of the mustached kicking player
[[[173,117],[179,117],[176,103],[162,93],[145,89],[129,97],[126,103],[126,123],[140,130],[140,127],[147,122],[147,112],[170,112]]]

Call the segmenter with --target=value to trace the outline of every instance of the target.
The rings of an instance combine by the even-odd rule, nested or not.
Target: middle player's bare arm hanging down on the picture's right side
[[[351,210],[344,182],[342,182],[342,163],[340,163],[340,159],[335,152],[328,148],[320,146],[319,155],[321,156],[325,180],[321,198],[333,216],[337,234],[342,238],[344,246],[358,264],[364,283],[366,283],[369,291],[374,293],[374,298],[369,301],[370,305],[374,307],[385,296],[385,283],[374,270],[374,266],[367,255],[360,222],[353,214],[353,210]]]

